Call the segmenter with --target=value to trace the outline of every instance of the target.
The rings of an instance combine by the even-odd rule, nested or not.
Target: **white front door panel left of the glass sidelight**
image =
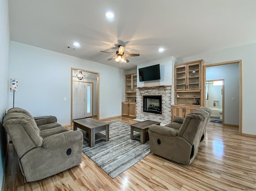
[[[72,119],[85,118],[84,83],[73,82],[73,114]]]

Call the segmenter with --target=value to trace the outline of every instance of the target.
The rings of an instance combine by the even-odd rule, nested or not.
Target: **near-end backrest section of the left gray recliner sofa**
[[[22,112],[8,112],[3,120],[19,157],[35,147],[41,147],[43,138],[34,118]]]

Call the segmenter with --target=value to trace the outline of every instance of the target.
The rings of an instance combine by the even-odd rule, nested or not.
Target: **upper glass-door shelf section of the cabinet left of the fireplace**
[[[136,101],[137,74],[125,75],[125,101]]]

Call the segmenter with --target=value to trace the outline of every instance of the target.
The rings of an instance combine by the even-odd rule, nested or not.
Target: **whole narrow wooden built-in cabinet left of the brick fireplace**
[[[122,115],[136,117],[137,73],[125,75],[125,102],[122,102]]]

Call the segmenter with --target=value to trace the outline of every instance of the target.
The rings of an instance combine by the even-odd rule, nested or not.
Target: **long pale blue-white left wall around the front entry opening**
[[[11,41],[10,78],[19,80],[15,107],[32,116],[54,115],[70,125],[71,67],[100,73],[100,119],[121,115],[124,70]],[[9,107],[12,107],[9,93]],[[66,97],[66,100],[64,100]]]

